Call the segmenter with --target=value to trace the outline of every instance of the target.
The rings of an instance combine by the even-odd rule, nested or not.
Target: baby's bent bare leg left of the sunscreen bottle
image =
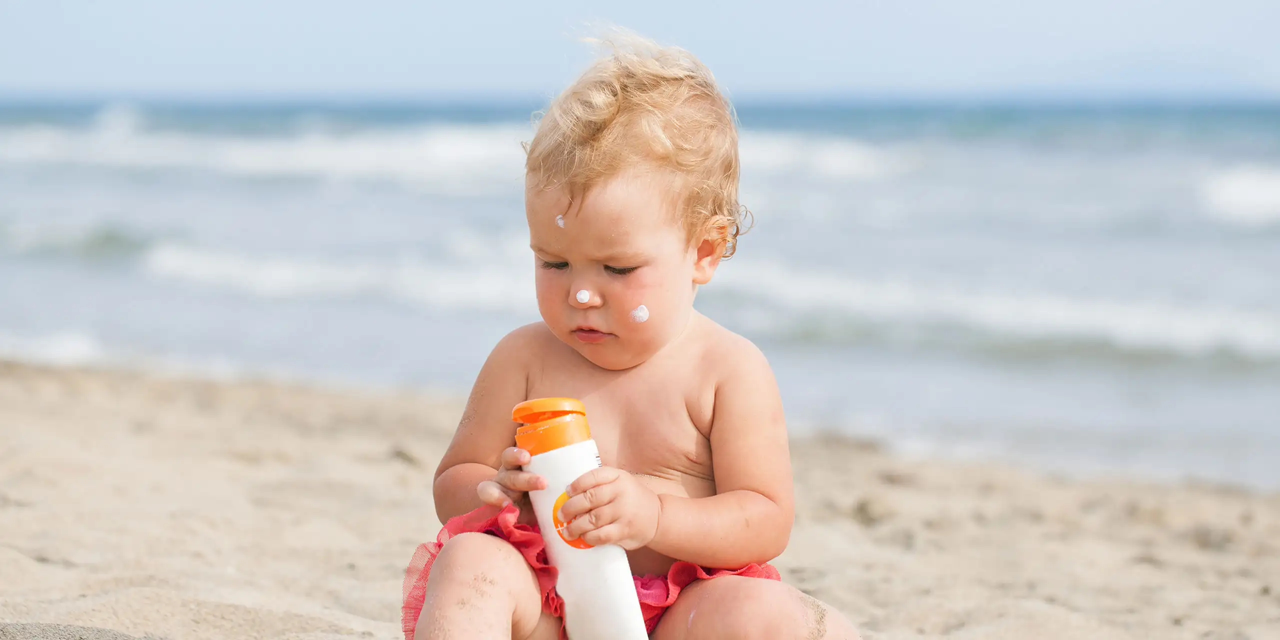
[[[538,579],[509,543],[461,534],[431,564],[413,640],[556,640],[559,618],[543,613]]]

